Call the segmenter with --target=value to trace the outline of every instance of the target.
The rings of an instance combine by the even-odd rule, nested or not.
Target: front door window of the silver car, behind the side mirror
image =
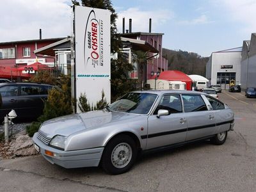
[[[182,113],[180,95],[164,95],[161,98],[156,110],[154,111],[154,115],[157,115],[157,111],[159,109],[168,110],[169,115],[171,113]]]

